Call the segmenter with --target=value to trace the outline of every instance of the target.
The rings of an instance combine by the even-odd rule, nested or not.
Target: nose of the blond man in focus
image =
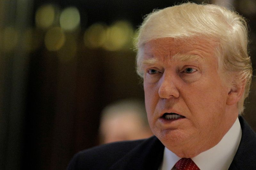
[[[177,89],[177,81],[175,82],[175,78],[163,75],[161,80],[159,81],[159,89],[158,94],[162,99],[170,99],[170,98],[178,98],[180,96],[180,92]]]

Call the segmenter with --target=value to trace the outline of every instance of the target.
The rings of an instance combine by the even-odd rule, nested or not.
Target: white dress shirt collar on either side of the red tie
[[[217,145],[191,159],[200,170],[227,170],[234,159],[241,136],[242,129],[237,118]],[[165,147],[163,162],[159,170],[176,170],[174,165],[180,159],[181,158]]]

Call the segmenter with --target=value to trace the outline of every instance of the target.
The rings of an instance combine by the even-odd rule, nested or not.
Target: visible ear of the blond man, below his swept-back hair
[[[245,83],[244,81],[240,84],[234,85],[228,92],[227,105],[236,104],[244,94]]]

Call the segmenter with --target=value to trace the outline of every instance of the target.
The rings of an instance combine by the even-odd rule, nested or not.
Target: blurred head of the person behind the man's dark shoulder
[[[100,119],[100,144],[148,138],[145,105],[140,100],[120,100],[105,107]]]

